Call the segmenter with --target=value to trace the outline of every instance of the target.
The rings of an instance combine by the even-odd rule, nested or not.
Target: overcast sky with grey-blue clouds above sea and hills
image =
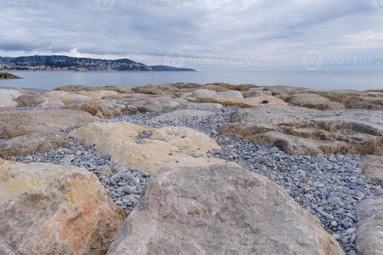
[[[383,0],[0,0],[0,55],[383,71]]]

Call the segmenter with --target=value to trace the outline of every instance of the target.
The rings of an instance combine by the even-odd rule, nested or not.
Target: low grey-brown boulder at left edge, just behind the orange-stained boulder
[[[68,143],[68,138],[56,132],[38,131],[20,135],[0,144],[0,157],[27,156],[48,152]]]

